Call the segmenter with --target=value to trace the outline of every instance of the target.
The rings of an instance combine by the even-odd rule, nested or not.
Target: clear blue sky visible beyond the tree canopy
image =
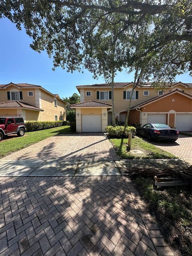
[[[30,48],[32,39],[25,30],[18,31],[8,19],[0,19],[0,84],[28,83],[38,84],[60,97],[69,97],[76,85],[104,83],[103,78],[94,80],[87,70],[84,73],[67,73],[62,68],[52,70],[52,60],[46,52],[41,54]],[[131,82],[133,74],[119,72],[115,82]],[[176,77],[176,81],[192,82],[189,74]]]

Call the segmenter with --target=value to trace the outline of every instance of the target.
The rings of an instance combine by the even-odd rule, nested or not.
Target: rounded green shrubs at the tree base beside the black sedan
[[[128,138],[129,132],[133,135],[136,133],[136,128],[133,126],[127,126],[124,134],[124,126],[107,126],[106,132],[108,132],[109,138]]]

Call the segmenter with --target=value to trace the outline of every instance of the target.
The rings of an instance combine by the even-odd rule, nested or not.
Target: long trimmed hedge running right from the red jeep
[[[53,122],[27,121],[25,124],[27,128],[27,132],[34,132],[34,131],[46,130],[54,127],[64,126],[69,124],[69,122],[68,121],[53,121]]]

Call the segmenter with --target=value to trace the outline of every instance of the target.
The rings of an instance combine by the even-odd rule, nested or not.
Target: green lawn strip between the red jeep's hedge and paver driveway
[[[26,132],[27,136],[18,137],[14,139],[2,140],[0,142],[0,157],[5,156],[8,153],[26,148],[27,146],[44,140],[48,137],[56,134],[73,134],[75,132],[70,131],[70,126],[55,127],[47,130],[41,130],[36,132]]]

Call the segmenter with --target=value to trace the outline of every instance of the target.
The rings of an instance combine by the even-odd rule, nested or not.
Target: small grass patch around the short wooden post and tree
[[[129,152],[127,146],[128,139],[110,139],[110,142],[114,146],[118,156],[124,159],[133,158],[177,158],[169,152],[166,152],[156,146],[144,141],[142,138],[134,137],[132,139],[131,150],[141,150],[144,154],[134,155]]]

